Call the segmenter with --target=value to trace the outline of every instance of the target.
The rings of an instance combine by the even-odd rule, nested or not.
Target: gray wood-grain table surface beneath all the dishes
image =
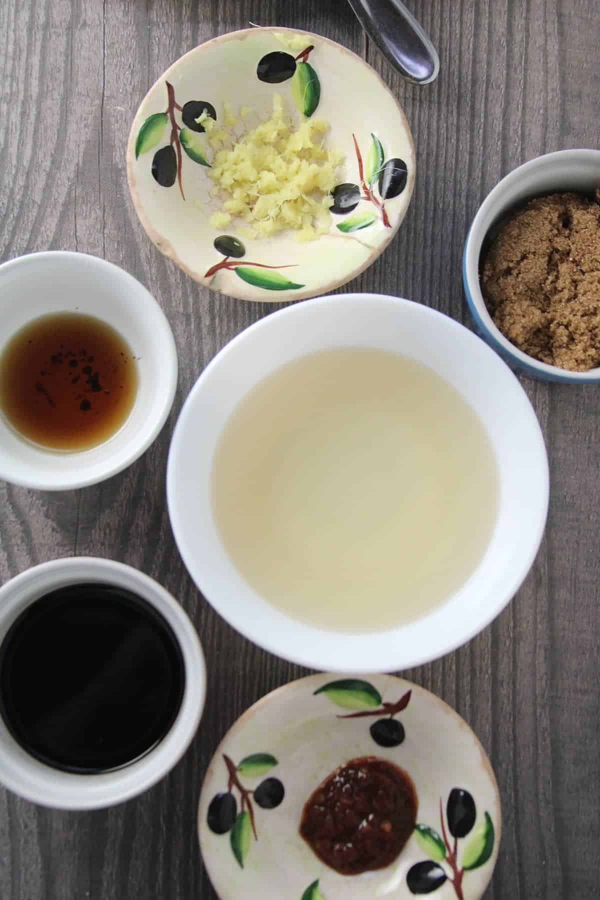
[[[0,483],[0,578],[71,554],[138,566],[191,615],[210,672],[193,745],[142,797],[68,814],[0,792],[2,900],[213,898],[195,836],[202,773],[246,707],[305,674],[219,620],[169,527],[166,455],[184,397],[220,347],[277,307],[202,290],[139,226],[124,151],[148,87],[186,50],[249,21],[363,54],[407,112],[417,183],[399,237],[346,290],[398,294],[464,322],[461,247],[485,194],[526,159],[598,144],[597,0],[407,3],[440,50],[441,75],[425,88],[391,71],[342,0],[0,0],[2,258],[74,249],[123,266],[163,305],[181,365],[166,428],[127,472],[59,494]],[[465,717],[496,769],[504,836],[486,900],[584,900],[600,896],[600,388],[524,387],[551,458],[533,572],[483,634],[406,676]]]

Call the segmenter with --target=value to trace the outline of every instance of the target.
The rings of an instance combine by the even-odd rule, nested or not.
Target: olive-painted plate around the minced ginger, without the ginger
[[[247,204],[215,219],[235,205],[214,180],[219,149],[267,121],[275,94],[292,130],[327,122],[318,145],[341,160],[327,193],[310,194],[327,208],[312,240],[293,228],[256,237]],[[399,103],[363,59],[316,34],[252,28],[201,44],[158,79],[133,121],[127,167],[143,227],[187,275],[244,300],[301,300],[350,281],[388,245],[413,193],[415,151]],[[283,174],[268,190],[282,184]]]

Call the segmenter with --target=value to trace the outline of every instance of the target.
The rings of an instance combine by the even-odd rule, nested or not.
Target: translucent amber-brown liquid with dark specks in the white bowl
[[[121,428],[138,391],[130,347],[94,316],[58,312],[31,321],[0,356],[0,407],[41,446],[85,450]]]

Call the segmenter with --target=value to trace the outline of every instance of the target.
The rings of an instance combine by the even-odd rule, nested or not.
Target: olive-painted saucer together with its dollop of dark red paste
[[[475,734],[391,675],[311,675],[259,700],[217,748],[198,811],[220,900],[479,900],[500,831]]]

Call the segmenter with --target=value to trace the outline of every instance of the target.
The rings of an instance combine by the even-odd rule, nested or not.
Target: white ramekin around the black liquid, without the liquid
[[[147,600],[166,619],[184,657],[184,699],[175,723],[154,750],[130,766],[100,775],[70,774],[33,759],[14,741],[0,717],[0,781],[33,803],[57,809],[114,806],[155,784],[175,766],[192,741],[206,696],[204,654],[190,619],[156,581],[123,563],[71,557],[41,563],[17,575],[0,588],[0,644],[13,621],[35,599],[68,584],[85,581],[130,590]],[[35,666],[34,660],[31,666]]]

